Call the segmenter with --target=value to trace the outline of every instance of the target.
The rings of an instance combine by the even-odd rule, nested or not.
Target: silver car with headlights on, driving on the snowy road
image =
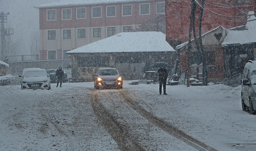
[[[123,78],[117,68],[99,68],[94,74],[94,88],[123,88]]]

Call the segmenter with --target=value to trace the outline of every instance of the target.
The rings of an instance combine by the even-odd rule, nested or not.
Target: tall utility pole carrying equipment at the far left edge
[[[0,35],[1,35],[1,53],[0,53],[0,60],[4,61],[6,57],[6,39],[5,36],[10,36],[13,34],[13,29],[7,29],[4,28],[4,23],[7,22],[7,15],[10,13],[8,12],[5,14],[4,12],[0,13],[0,22],[1,22],[1,30],[0,30]]]

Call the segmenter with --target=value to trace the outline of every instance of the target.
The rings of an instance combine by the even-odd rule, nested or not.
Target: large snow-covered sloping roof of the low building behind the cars
[[[127,32],[90,43],[66,53],[163,52],[175,51],[161,32]]]

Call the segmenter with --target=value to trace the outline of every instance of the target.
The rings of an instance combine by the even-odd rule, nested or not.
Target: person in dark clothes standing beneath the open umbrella
[[[162,94],[162,86],[163,86],[163,89],[164,89],[164,95],[167,95],[166,93],[166,80],[167,80],[167,77],[168,77],[168,73],[167,73],[167,70],[166,68],[160,68],[158,69],[158,75],[159,75],[159,94],[161,95]]]

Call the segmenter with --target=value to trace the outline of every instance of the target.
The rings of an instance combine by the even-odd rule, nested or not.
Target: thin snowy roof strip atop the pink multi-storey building
[[[129,3],[129,2],[143,2],[143,1],[149,1],[149,0],[63,0],[63,1],[53,2],[53,3],[43,4],[43,5],[37,5],[37,6],[34,6],[34,8]]]

